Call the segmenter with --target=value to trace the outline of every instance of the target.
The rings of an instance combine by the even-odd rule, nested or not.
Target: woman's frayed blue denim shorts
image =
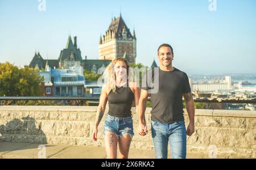
[[[104,125],[104,136],[108,131],[114,132],[118,138],[125,134],[130,134],[130,136],[133,137],[133,116],[114,117],[108,114]]]

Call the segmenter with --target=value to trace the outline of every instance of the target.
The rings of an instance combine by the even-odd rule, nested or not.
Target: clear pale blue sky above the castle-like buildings
[[[188,74],[256,73],[256,1],[71,1],[0,0],[0,62],[28,65],[39,50],[57,59],[69,33],[82,57],[97,59],[100,34],[112,14],[137,35],[137,62],[150,66],[160,44],[174,48],[174,66]],[[158,63],[158,62],[157,62]]]

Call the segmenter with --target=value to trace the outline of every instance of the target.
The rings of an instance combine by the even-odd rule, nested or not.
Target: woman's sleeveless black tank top
[[[108,94],[109,115],[114,117],[130,117],[131,105],[133,104],[134,94],[130,87],[115,87]]]

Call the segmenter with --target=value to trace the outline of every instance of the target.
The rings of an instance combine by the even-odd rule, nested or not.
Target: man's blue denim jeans
[[[151,132],[156,159],[167,159],[168,142],[171,145],[172,158],[186,158],[187,133],[184,121],[177,121],[172,124],[151,121]]]

